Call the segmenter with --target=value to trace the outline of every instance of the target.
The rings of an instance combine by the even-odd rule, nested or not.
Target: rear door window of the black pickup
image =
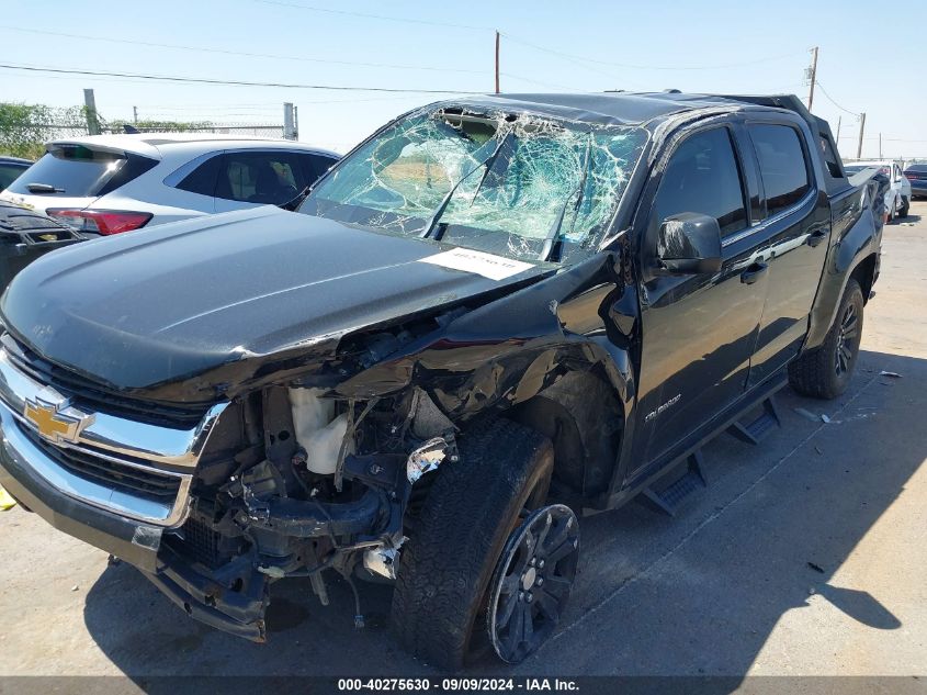
[[[811,177],[799,133],[788,125],[753,124],[750,137],[766,191],[766,213],[782,212],[811,190]]]

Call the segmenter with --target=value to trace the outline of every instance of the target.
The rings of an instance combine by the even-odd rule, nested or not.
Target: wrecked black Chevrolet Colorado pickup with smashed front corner
[[[355,581],[394,582],[430,663],[517,662],[563,614],[577,514],[669,508],[787,382],[844,391],[880,238],[793,97],[431,104],[297,212],[26,268],[0,305],[0,484],[247,639],[274,580],[325,604],[340,575],[359,624]]]

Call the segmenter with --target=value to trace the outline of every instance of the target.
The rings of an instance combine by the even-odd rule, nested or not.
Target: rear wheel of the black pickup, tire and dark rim
[[[847,390],[859,356],[862,311],[862,290],[850,279],[824,343],[789,365],[789,383],[795,391],[815,399],[836,399]]]

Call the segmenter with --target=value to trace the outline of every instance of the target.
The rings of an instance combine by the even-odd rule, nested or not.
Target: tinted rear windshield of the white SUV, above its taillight
[[[157,164],[147,157],[131,157],[91,149],[83,145],[56,145],[21,176],[10,187],[10,191],[21,195],[41,193],[44,197],[90,197],[101,195],[117,186],[127,183],[133,178],[147,171]],[[113,186],[110,186],[110,183]],[[45,190],[37,190],[30,184],[45,184]],[[54,192],[48,188],[54,188]]]

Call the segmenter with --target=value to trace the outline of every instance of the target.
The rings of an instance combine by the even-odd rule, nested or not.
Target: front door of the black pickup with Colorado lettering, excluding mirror
[[[767,288],[750,234],[745,170],[726,125],[692,133],[671,152],[642,238],[638,425],[629,478],[744,393]],[[751,161],[750,161],[751,165]],[[655,258],[660,223],[694,212],[717,218],[716,273],[668,274]]]

